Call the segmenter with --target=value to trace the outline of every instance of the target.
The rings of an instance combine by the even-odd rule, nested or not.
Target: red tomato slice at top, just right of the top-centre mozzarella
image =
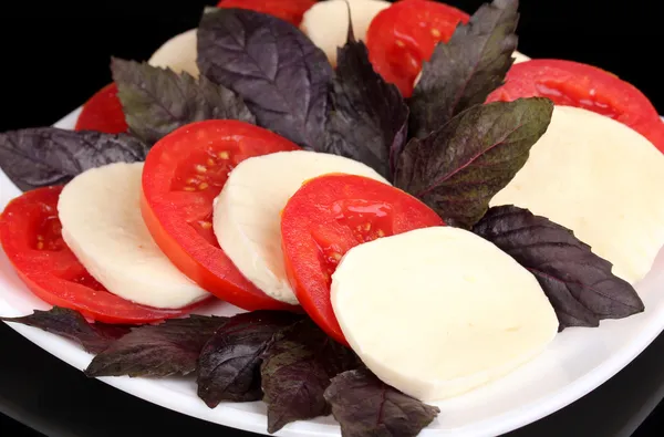
[[[438,42],[449,41],[459,22],[469,19],[437,1],[397,1],[372,20],[366,32],[369,59],[386,82],[409,97],[422,63],[432,58]]]

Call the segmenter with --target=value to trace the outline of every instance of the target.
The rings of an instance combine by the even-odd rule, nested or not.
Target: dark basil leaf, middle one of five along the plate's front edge
[[[286,311],[252,311],[230,318],[200,352],[198,397],[210,408],[221,400],[261,399],[261,354],[276,333],[300,318]]]

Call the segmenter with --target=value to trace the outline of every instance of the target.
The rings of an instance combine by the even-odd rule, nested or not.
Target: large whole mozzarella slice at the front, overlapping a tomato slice
[[[332,275],[331,300],[364,364],[424,402],[506,375],[558,332],[535,277],[489,241],[453,227],[356,246]]]

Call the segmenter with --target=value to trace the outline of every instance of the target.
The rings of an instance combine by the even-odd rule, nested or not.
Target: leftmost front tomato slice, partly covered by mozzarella
[[[58,219],[62,186],[39,188],[13,199],[0,216],[0,243],[19,278],[51,305],[105,323],[141,324],[175,318],[180,310],[139,305],[106,291],[64,243]]]

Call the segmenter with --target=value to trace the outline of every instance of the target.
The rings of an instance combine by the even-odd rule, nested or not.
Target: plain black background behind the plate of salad
[[[473,12],[484,1],[448,2]],[[521,0],[519,51],[611,71],[664,113],[662,3]],[[211,4],[214,0],[1,1],[0,131],[54,123],[111,82],[111,55],[148,59],[165,40],[196,27],[203,7]],[[656,416],[649,423],[653,435],[662,435],[657,423]],[[0,434],[20,431],[0,418]]]

